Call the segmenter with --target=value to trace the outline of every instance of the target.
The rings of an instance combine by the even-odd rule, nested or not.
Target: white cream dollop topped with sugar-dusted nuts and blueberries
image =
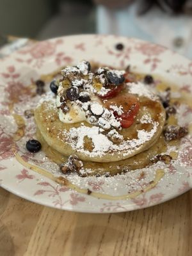
[[[124,70],[109,68],[99,68],[93,73],[90,72],[88,61],[61,70],[63,79],[59,83],[56,97],[60,121],[65,124],[86,121],[104,130],[120,128],[120,122],[116,120],[113,111],[104,108],[99,95],[103,96],[110,91],[104,87],[106,83],[122,84],[124,73]]]

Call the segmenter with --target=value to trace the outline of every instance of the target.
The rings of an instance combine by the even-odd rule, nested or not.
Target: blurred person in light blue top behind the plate
[[[136,37],[192,59],[192,0],[93,0],[97,33]]]

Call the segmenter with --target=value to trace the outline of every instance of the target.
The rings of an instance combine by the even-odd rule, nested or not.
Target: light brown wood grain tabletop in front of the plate
[[[1,256],[191,256],[192,190],[116,214],[51,209],[0,188]]]

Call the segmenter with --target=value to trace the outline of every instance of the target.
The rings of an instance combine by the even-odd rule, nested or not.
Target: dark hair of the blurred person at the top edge
[[[138,13],[140,15],[145,14],[154,6],[159,6],[164,12],[173,14],[188,12],[191,11],[190,7],[192,7],[190,3],[189,6],[186,7],[189,1],[191,2],[191,0],[140,0],[141,4]]]

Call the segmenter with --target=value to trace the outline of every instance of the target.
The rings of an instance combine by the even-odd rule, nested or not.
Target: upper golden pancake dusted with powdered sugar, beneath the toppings
[[[125,90],[129,92],[132,87],[127,88]],[[130,92],[138,97],[140,111],[131,127],[118,131],[124,138],[119,143],[109,140],[106,131],[100,132],[99,127],[88,122],[61,122],[54,96],[43,98],[35,109],[36,125],[46,143],[63,156],[76,154],[83,161],[99,163],[127,159],[152,147],[161,135],[165,121],[165,111],[157,97],[147,97],[148,91]]]

